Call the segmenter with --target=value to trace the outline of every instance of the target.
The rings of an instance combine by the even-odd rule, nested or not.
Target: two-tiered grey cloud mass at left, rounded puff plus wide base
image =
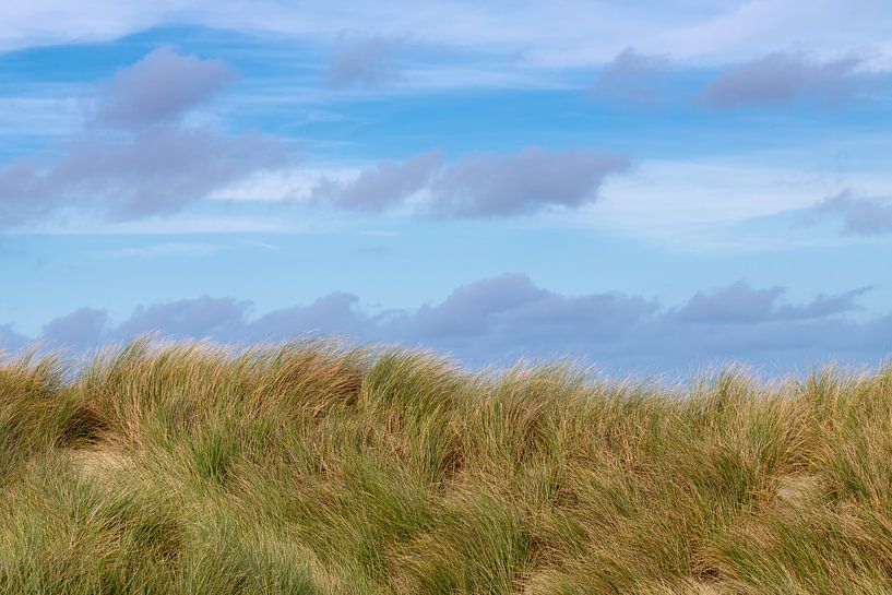
[[[289,163],[277,138],[178,121],[229,76],[222,62],[165,48],[119,72],[100,86],[94,120],[55,154],[0,166],[0,228],[72,204],[120,219],[173,213]]]

